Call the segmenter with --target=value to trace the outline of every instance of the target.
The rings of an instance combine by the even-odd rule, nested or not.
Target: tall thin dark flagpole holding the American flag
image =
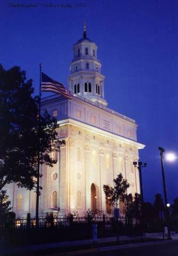
[[[42,90],[42,63],[39,64],[39,110],[38,110],[38,165],[37,165],[37,185],[36,185],[36,218],[35,224],[38,228],[39,211],[39,167],[40,167],[40,130],[41,130],[41,90]]]

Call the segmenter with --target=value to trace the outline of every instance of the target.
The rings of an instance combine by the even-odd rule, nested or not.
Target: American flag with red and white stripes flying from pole
[[[53,80],[52,78],[44,74],[43,72],[42,72],[42,91],[58,93],[68,99],[71,99],[71,95],[69,94],[68,90],[63,84],[56,82],[55,80]]]

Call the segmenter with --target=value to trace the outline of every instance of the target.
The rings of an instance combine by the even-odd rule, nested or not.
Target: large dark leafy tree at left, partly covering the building
[[[47,112],[39,118],[39,98],[33,93],[25,71],[0,65],[0,190],[11,182],[27,189],[36,186],[38,151],[41,164],[56,163],[50,153],[63,142],[58,141],[59,126]]]

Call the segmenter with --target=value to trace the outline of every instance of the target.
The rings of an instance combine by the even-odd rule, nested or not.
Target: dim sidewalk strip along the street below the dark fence
[[[173,240],[178,240],[178,234],[172,234]],[[153,239],[161,239],[163,238],[161,233],[155,233],[155,234],[145,234],[144,236],[119,236],[119,241],[136,241],[136,240],[142,240],[145,238],[153,238]],[[83,252],[86,250],[89,251],[101,251],[101,249],[103,248],[103,250],[111,250],[111,248],[118,248],[118,247],[130,247],[132,246],[140,246],[140,245],[144,245],[144,244],[152,244],[152,243],[160,243],[160,242],[167,242],[167,241],[156,241],[156,242],[142,242],[142,243],[133,243],[132,244],[125,244],[125,245],[114,245],[114,246],[104,246],[104,247],[100,247],[104,244],[104,243],[111,243],[111,242],[117,242],[117,237],[107,237],[107,238],[99,238],[98,239],[98,248],[95,249],[85,249],[82,250]],[[65,249],[65,248],[70,248],[72,249],[72,247],[81,247],[82,246],[92,246],[93,244],[93,239],[87,239],[87,240],[76,240],[76,241],[66,241],[66,242],[59,242],[59,243],[50,243],[50,244],[37,244],[37,245],[28,245],[28,246],[21,246],[21,247],[7,247],[6,245],[1,246],[0,247],[0,255],[12,255],[12,254],[18,254],[20,253],[21,255],[23,255],[24,253],[35,253],[35,252],[39,252],[39,251],[45,251],[45,250],[49,250],[49,249]],[[99,248],[100,247],[100,248]],[[91,251],[91,252],[92,252]],[[60,252],[59,252],[60,253]],[[67,253],[67,252],[64,252]],[[68,255],[74,255],[71,253],[73,252],[68,252]],[[76,251],[75,254],[79,253],[79,251]],[[60,253],[60,255],[67,255],[67,254],[63,254],[63,252]]]

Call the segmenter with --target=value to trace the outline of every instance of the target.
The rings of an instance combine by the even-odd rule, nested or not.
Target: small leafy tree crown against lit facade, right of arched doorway
[[[123,179],[123,174],[119,173],[117,178],[113,180],[114,188],[109,187],[108,185],[103,185],[104,194],[106,196],[106,203],[109,205],[118,207],[119,199],[123,201],[124,195],[127,188],[130,187],[130,184],[127,180]]]

